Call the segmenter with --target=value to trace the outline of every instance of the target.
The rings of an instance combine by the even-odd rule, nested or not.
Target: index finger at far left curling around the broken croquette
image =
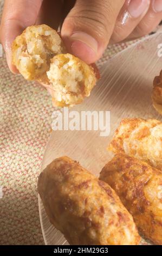
[[[5,0],[0,26],[0,40],[12,72],[17,72],[11,63],[12,41],[26,27],[35,24],[41,4],[42,0]]]

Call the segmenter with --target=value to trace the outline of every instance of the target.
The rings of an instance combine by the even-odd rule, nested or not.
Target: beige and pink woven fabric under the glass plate
[[[0,0],[0,17],[2,8]],[[130,44],[109,46],[98,65]],[[42,245],[37,177],[53,106],[46,89],[11,74],[4,54],[0,58],[0,111],[0,245]]]

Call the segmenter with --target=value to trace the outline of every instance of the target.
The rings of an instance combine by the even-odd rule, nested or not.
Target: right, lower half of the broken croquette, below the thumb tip
[[[81,103],[96,84],[92,66],[69,53],[51,59],[47,76],[54,105],[60,107]]]

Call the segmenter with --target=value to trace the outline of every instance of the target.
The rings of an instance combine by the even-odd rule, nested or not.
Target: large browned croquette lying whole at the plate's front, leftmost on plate
[[[38,178],[50,222],[71,245],[138,245],[132,216],[105,182],[79,163],[60,157]]]

